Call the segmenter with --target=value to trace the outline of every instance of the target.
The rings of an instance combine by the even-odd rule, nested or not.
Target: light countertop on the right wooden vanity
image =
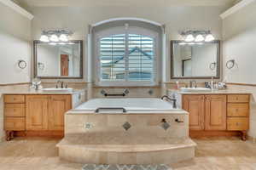
[[[177,94],[251,94],[248,92],[243,92],[242,90],[237,91],[237,90],[229,90],[229,89],[213,90],[209,92],[182,92],[181,90],[176,90],[176,89],[168,89],[168,91],[177,92]]]

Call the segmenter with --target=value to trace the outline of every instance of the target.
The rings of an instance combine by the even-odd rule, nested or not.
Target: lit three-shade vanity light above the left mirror
[[[48,30],[42,31],[40,41],[49,42],[49,44],[56,45],[57,42],[60,44],[66,44],[69,41],[69,37],[73,35],[73,31],[68,30]]]

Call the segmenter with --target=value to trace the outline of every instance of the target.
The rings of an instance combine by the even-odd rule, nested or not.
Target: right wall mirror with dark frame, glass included
[[[219,78],[220,42],[171,41],[171,78]]]

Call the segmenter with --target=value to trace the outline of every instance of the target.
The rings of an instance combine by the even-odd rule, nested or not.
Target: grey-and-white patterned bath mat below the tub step
[[[85,164],[82,170],[172,170],[166,164],[158,165],[108,165],[108,164]]]

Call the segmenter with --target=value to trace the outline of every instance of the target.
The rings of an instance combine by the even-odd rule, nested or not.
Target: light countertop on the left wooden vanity
[[[83,93],[84,89],[73,89],[73,92],[44,92],[43,90],[35,89],[13,89],[13,90],[3,90],[0,94],[80,94]]]

